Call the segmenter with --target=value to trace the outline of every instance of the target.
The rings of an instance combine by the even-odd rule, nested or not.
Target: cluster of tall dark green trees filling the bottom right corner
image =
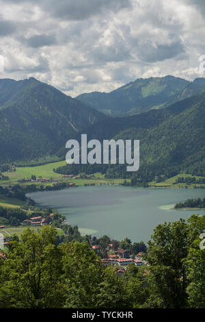
[[[205,216],[195,215],[188,223],[180,219],[156,226],[149,242],[150,297],[144,307],[194,307],[196,292],[201,299],[199,306],[204,305],[204,251],[199,249],[199,236],[204,228]],[[196,253],[198,260],[193,264]]]

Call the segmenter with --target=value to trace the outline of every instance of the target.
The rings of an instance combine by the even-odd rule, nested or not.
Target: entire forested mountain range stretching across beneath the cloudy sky
[[[147,173],[205,175],[205,79],[138,79],[124,86],[125,114],[134,101],[134,83],[138,90],[139,83],[147,84],[146,90],[152,83],[152,95],[145,96],[143,112],[106,116],[98,106],[88,106],[34,78],[0,79],[0,162],[38,160],[45,155],[65,158],[66,141],[87,133],[88,139],[139,139],[140,169]],[[169,91],[167,84],[171,83]],[[136,99],[140,100],[142,97]],[[145,102],[149,100],[148,106]]]

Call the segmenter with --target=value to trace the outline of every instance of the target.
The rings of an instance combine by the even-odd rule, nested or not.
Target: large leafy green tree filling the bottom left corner
[[[58,308],[62,303],[61,253],[53,227],[40,234],[26,230],[22,241],[10,242],[1,267],[0,306],[8,308]]]

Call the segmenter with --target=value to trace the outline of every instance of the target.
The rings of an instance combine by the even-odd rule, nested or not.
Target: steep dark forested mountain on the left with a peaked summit
[[[0,161],[52,156],[106,116],[33,77],[0,79]]]

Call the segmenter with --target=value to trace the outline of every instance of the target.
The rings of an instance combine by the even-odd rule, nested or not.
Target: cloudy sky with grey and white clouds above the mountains
[[[205,77],[204,0],[0,0],[0,78],[76,97],[137,78]]]

